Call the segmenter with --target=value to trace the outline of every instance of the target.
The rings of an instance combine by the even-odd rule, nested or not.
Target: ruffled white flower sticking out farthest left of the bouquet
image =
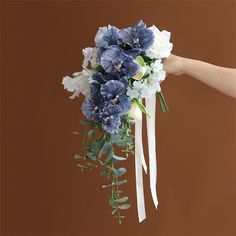
[[[73,92],[70,96],[71,99],[79,97],[80,93],[84,96],[90,96],[90,86],[89,82],[91,81],[91,72],[89,70],[83,70],[81,72],[76,72],[73,74],[73,78],[66,76],[62,80],[64,89],[68,92]]]

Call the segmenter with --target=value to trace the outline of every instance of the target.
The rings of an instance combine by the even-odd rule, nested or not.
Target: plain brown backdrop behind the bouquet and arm
[[[4,1],[2,6],[2,235],[235,235],[235,100],[187,76],[163,85],[158,107],[158,196],[145,178],[147,220],[132,207],[118,225],[109,191],[73,160],[80,99],[61,79],[81,70],[98,26],[143,19],[172,32],[173,53],[235,67],[234,1]],[[146,148],[146,139],[145,139]]]

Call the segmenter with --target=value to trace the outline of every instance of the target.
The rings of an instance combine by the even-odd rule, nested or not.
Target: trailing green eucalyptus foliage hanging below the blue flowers
[[[120,189],[128,182],[124,178],[127,169],[120,164],[127,160],[129,154],[134,154],[131,134],[134,120],[128,115],[122,116],[120,129],[113,134],[106,133],[95,121],[81,120],[80,123],[86,125],[88,130],[85,133],[73,132],[85,137],[82,153],[75,154],[74,159],[81,171],[102,167],[100,175],[106,177],[106,183],[101,187],[110,189],[108,202],[112,208],[112,216],[121,224],[125,218],[121,211],[128,209],[131,204],[128,203],[128,196],[124,196]],[[122,147],[123,156],[115,154],[115,146]]]

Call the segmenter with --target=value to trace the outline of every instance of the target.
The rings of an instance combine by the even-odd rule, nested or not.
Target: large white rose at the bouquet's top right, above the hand
[[[159,31],[155,25],[149,27],[149,29],[154,34],[154,42],[152,46],[146,51],[146,55],[152,59],[168,57],[173,48],[173,44],[170,43],[171,33],[166,30]]]

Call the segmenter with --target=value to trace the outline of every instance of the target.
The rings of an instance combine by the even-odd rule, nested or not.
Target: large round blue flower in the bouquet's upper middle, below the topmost
[[[111,73],[118,78],[123,76],[132,77],[137,74],[139,68],[139,65],[133,61],[133,58],[126,55],[117,46],[112,46],[103,52],[101,65],[107,73]]]

